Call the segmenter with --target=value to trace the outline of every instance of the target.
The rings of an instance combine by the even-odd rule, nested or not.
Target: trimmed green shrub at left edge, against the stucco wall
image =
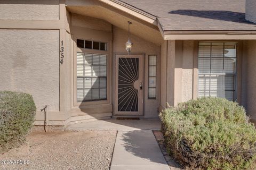
[[[0,91],[0,152],[17,147],[26,139],[36,107],[31,95]]]

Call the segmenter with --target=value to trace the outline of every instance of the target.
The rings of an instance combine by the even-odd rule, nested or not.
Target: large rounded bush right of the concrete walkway
[[[255,127],[237,103],[199,98],[160,117],[167,151],[186,169],[250,169],[255,163]]]

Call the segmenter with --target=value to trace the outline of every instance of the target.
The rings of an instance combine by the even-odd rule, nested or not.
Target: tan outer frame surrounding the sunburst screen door
[[[117,58],[119,58],[120,56],[132,56],[132,57],[139,57],[141,58],[141,76],[142,76],[142,90],[141,90],[141,106],[138,107],[138,114],[125,114],[125,113],[118,113],[117,109],[117,93],[118,93],[118,87],[117,87],[117,79],[118,79],[118,67],[117,67]],[[114,116],[143,116],[144,115],[144,88],[145,88],[145,82],[144,82],[144,77],[145,77],[145,72],[144,72],[144,57],[145,54],[143,53],[131,53],[131,54],[127,54],[127,53],[116,53],[114,54],[114,58],[113,58],[113,115]]]

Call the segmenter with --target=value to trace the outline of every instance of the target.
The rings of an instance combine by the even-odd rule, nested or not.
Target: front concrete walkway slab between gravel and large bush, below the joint
[[[110,170],[170,170],[151,130],[118,131]]]

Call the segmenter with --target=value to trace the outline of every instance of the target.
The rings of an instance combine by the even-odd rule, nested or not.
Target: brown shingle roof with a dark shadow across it
[[[157,16],[164,31],[256,30],[245,0],[121,0]]]

